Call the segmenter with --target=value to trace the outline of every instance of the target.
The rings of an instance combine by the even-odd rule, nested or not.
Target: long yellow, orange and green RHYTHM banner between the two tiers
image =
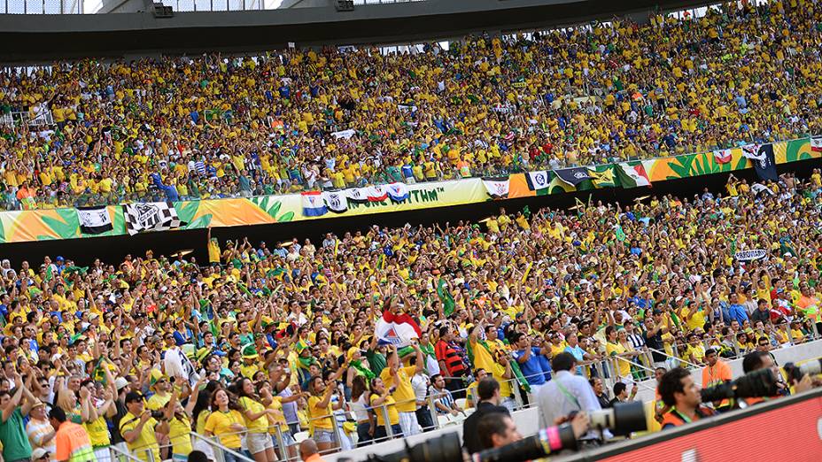
[[[822,158],[822,151],[815,150],[814,146],[811,146],[810,138],[792,142],[777,142],[769,146],[769,151],[772,150],[773,160],[776,164]],[[756,151],[755,155],[758,154],[759,150]],[[748,158],[743,155],[741,148],[731,149],[731,158],[727,160],[727,157],[726,152],[720,158],[717,158],[716,154],[710,151],[643,160],[640,164],[645,174],[640,176],[643,179],[647,177],[648,182],[655,183],[657,181],[688,178],[710,173],[727,173],[752,167]],[[632,165],[638,164],[632,163]],[[617,168],[613,164],[609,166],[612,169]],[[607,168],[608,166],[587,167],[586,176],[589,176],[591,172],[600,173]],[[536,173],[539,175],[540,172]],[[500,197],[507,194],[506,197],[511,199],[613,187],[611,186],[612,182],[603,181],[601,177],[589,177],[579,181],[575,186],[567,181],[560,180],[556,175],[549,175],[547,186],[534,189],[537,185],[541,186],[542,178],[527,175],[526,173],[498,177],[494,181],[500,181],[494,184],[503,187],[499,190],[499,195],[497,195],[497,189],[486,189],[483,180],[479,178],[403,185],[407,187],[407,198],[405,199],[402,199],[402,197],[406,195],[406,192],[399,185],[394,189],[391,185],[384,185],[379,188],[366,187],[327,191],[322,194],[322,200],[317,205],[324,205],[334,213],[324,213],[320,216],[304,215],[304,204],[300,194],[179,201],[173,205],[174,211],[177,212],[182,222],[181,227],[183,229],[201,229],[206,227],[242,227],[304,219],[329,219],[331,217],[476,204],[490,200],[490,192]],[[507,183],[507,189],[505,183]],[[397,199],[402,200],[398,201]],[[336,200],[339,202],[336,203]],[[127,219],[123,213],[123,207],[121,205],[110,205],[105,207],[105,210],[111,218],[112,229],[108,229],[108,224],[105,223],[106,230],[98,235],[91,234],[95,231],[94,226],[91,226],[94,225],[92,221],[86,220],[85,226],[81,224],[79,212],[74,208],[0,212],[0,243],[25,243],[128,234]],[[132,221],[132,219],[129,218],[129,221]]]

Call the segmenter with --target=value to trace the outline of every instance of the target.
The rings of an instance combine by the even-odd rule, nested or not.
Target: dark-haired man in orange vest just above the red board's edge
[[[663,415],[663,429],[679,427],[714,414],[713,410],[701,406],[700,386],[691,373],[682,367],[674,367],[659,381],[659,394],[663,402],[672,409]]]

